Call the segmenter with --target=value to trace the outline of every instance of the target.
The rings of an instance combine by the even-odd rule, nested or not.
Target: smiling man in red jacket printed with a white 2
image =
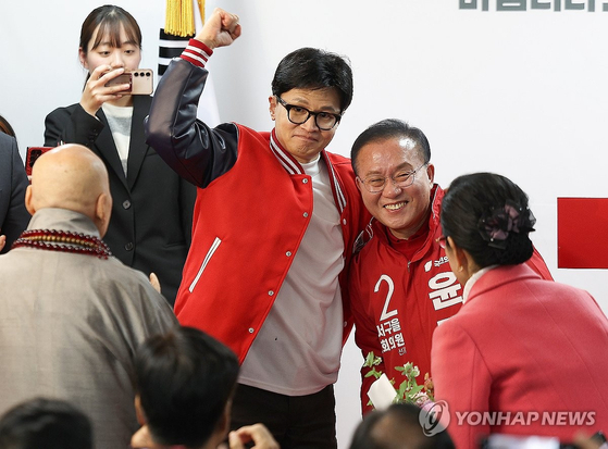
[[[405,377],[395,367],[408,362],[419,367],[420,385],[431,372],[433,330],[462,304],[462,286],[442,248],[444,190],[433,183],[431,147],[419,128],[385,120],[357,138],[350,157],[357,187],[374,216],[350,272],[355,339],[363,357],[382,358],[375,370],[394,378],[396,387]],[[536,251],[528,263],[551,279]],[[375,381],[365,377],[369,371],[361,370],[363,412],[371,410],[368,391]]]

